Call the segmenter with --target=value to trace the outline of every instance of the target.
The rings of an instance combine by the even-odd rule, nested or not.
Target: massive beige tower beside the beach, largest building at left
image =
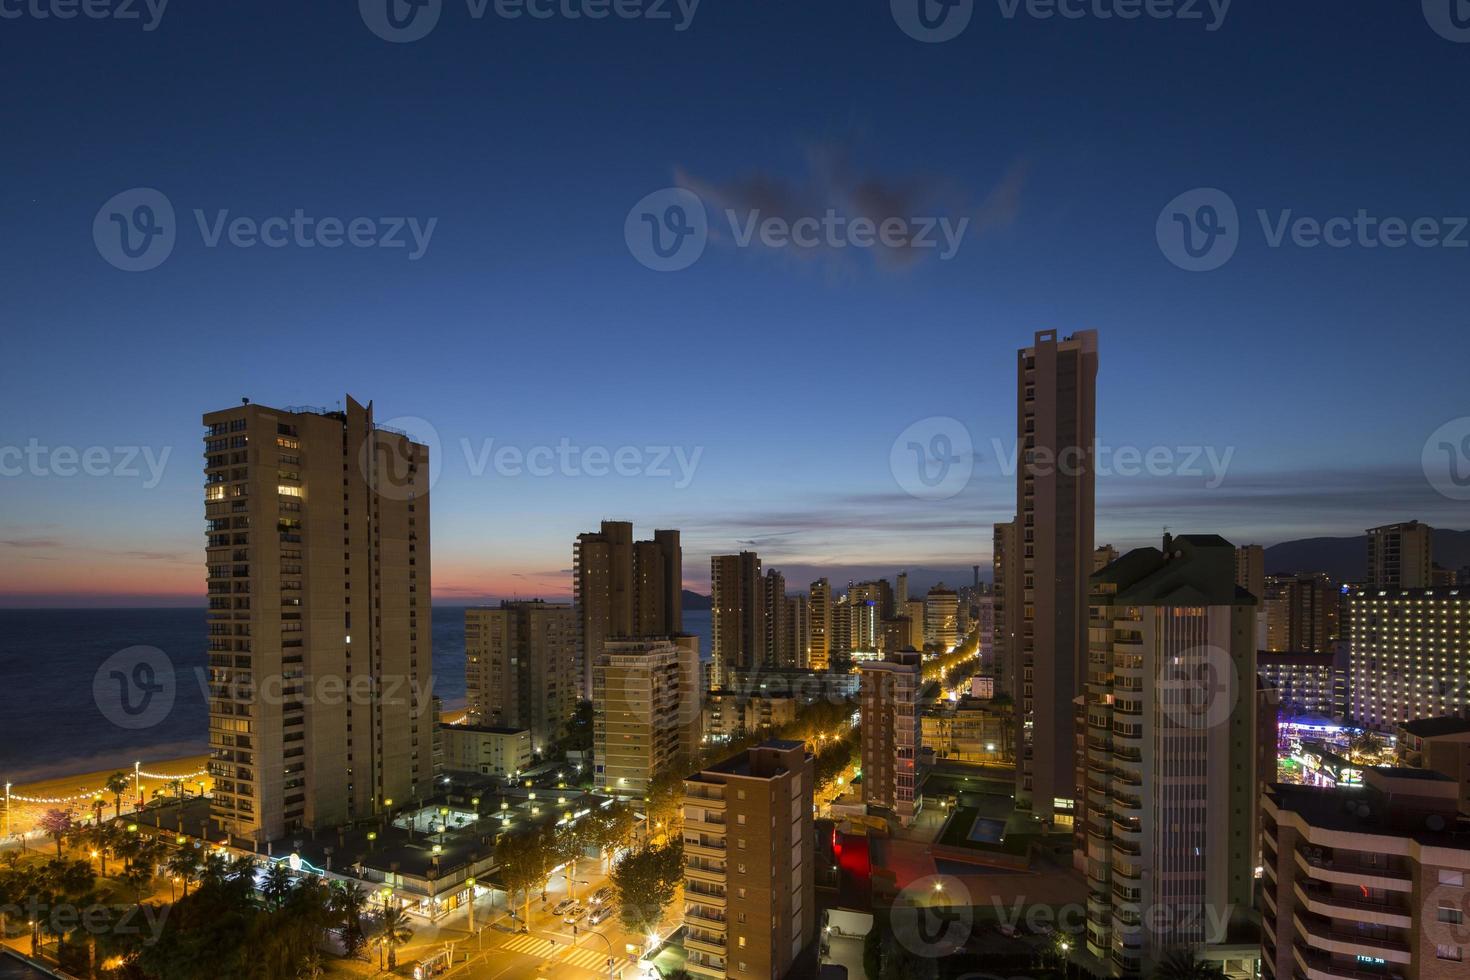
[[[351,398],[212,411],[204,516],[215,820],[265,843],[426,790],[428,447]]]

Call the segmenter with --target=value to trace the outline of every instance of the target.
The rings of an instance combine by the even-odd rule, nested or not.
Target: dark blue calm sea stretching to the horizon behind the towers
[[[710,655],[710,614],[685,610]],[[0,783],[132,767],[207,751],[204,610],[0,610]],[[93,680],[109,657],[156,646],[173,664],[175,701],[146,729],[112,724]],[[465,608],[434,608],[434,693],[465,701]]]

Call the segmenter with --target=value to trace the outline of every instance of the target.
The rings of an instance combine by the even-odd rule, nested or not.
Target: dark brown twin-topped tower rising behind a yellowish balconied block
[[[578,619],[582,696],[591,696],[592,660],[609,639],[676,636],[684,632],[684,554],[678,530],[634,541],[634,526],[604,520],[576,536],[572,592]]]

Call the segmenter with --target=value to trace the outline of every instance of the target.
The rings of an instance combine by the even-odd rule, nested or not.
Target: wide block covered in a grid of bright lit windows
[[[1470,713],[1470,592],[1360,589],[1348,599],[1348,714],[1392,732]]]

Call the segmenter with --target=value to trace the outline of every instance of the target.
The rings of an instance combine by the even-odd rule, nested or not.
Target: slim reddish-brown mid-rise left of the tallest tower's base
[[[863,663],[858,692],[863,745],[863,802],[886,807],[910,826],[919,813],[919,746],[923,721],[919,689],[922,654],[904,651]]]

